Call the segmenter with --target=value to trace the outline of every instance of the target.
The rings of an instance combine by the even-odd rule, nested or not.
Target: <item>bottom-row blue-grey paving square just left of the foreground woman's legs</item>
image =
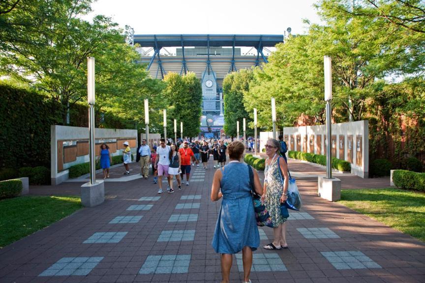
[[[149,255],[139,274],[187,273],[190,255]]]

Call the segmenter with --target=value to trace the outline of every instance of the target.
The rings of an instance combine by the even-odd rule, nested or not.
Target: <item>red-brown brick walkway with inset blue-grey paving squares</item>
[[[289,166],[323,171],[292,160]],[[116,170],[118,177],[122,168]],[[152,177],[105,183],[102,205],[0,250],[0,282],[219,282],[220,257],[210,244],[220,205],[209,199],[213,172],[212,164],[192,169],[193,181],[174,194],[158,195]],[[344,188],[389,182],[340,178]],[[290,211],[289,249],[254,252],[253,283],[425,282],[423,242],[318,198],[316,178],[297,183],[304,206]],[[34,186],[30,193],[79,194],[80,185]],[[261,246],[270,243],[272,229],[259,230]],[[232,282],[243,279],[240,258],[234,256]]]

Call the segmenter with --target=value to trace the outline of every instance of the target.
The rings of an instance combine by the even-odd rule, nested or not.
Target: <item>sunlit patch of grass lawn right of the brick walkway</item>
[[[339,203],[425,241],[425,194],[394,188],[341,190]]]

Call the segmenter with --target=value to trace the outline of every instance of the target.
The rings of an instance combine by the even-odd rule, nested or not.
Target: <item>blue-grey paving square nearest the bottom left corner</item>
[[[38,276],[86,276],[102,259],[103,256],[62,257]]]

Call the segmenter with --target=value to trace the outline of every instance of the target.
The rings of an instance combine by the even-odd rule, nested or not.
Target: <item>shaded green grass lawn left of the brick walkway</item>
[[[0,249],[81,208],[80,197],[17,197],[0,200]]]

